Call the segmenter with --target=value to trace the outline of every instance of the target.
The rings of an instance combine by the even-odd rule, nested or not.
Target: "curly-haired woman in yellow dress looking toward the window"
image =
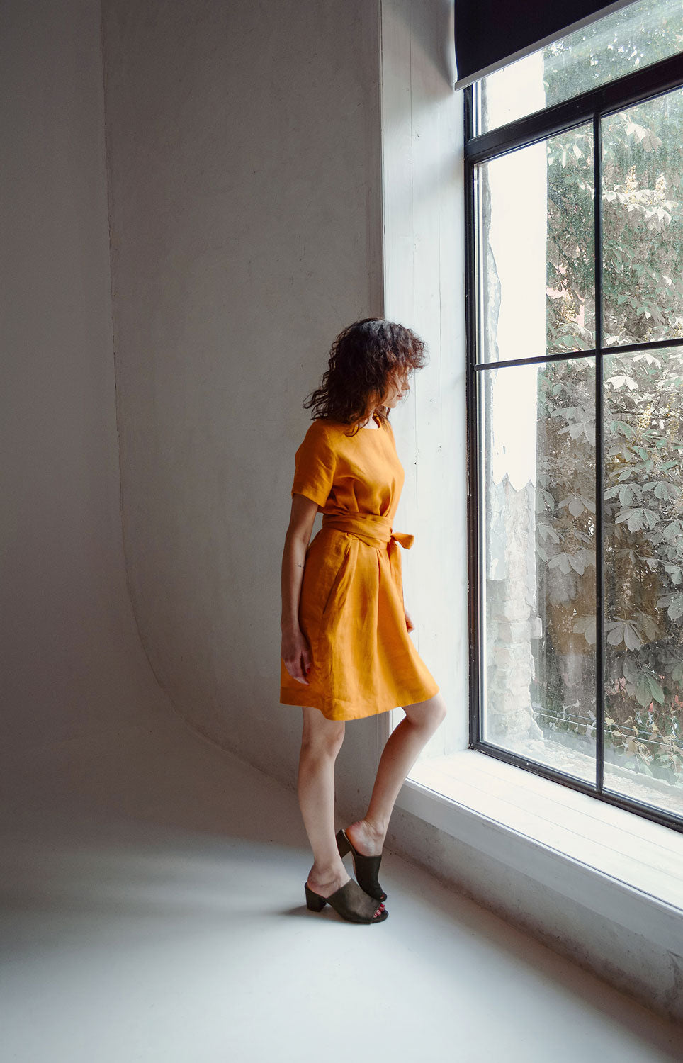
[[[304,730],[297,792],[313,865],[314,911],[329,904],[354,923],[388,916],[377,880],[389,819],[406,775],[445,716],[439,687],[408,632],[399,545],[392,529],[404,483],[389,424],[426,362],[409,328],[368,318],[335,340],[313,420],[296,451],[283,555],[280,702],[298,705]],[[310,536],[317,512],[323,526]],[[310,545],[309,545],[310,542]],[[368,812],[335,836],[335,760],[346,720],[403,706],[381,755]],[[358,882],[344,868],[353,854]]]

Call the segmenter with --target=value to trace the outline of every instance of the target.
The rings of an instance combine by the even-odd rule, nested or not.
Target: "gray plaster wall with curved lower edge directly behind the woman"
[[[129,585],[184,718],[292,784],[279,566],[305,394],[381,310],[377,6],[104,0]],[[376,721],[347,728],[342,802]],[[365,780],[365,783],[363,782]]]

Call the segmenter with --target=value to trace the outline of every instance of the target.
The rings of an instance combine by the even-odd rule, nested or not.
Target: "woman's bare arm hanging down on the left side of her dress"
[[[311,657],[310,647],[298,626],[298,600],[306,551],[317,512],[318,505],[310,499],[303,494],[292,495],[292,511],[283,551],[283,614],[279,623],[283,632],[281,657],[292,678],[306,686]]]

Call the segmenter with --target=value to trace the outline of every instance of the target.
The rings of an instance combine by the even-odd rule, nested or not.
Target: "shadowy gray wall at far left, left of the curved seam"
[[[125,586],[100,5],[0,7],[2,784],[163,698]]]

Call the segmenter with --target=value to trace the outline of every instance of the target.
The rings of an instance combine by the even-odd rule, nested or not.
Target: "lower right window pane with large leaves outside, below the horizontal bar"
[[[683,351],[604,359],[604,782],[683,813]]]

